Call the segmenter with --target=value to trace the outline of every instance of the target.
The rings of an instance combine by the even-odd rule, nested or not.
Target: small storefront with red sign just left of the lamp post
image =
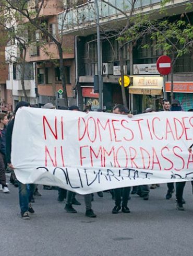
[[[84,106],[90,106],[91,110],[99,108],[99,94],[94,93],[93,87],[82,87]]]

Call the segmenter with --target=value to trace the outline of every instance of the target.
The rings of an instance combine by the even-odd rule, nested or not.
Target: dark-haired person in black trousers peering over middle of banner
[[[114,114],[127,114],[126,108],[122,104],[117,104],[113,108]],[[115,196],[115,206],[112,210],[113,214],[117,214],[120,209],[122,209],[123,213],[130,213],[130,210],[127,206],[130,194],[130,187],[126,188],[118,188],[114,189],[114,196]],[[122,205],[122,207],[121,207]]]

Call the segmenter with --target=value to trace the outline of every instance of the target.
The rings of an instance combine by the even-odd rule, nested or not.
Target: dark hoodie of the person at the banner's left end
[[[18,111],[19,108],[21,107],[29,107],[30,104],[26,101],[19,101],[16,105],[14,115]],[[11,120],[8,123],[7,126],[7,133],[6,133],[6,157],[7,157],[7,164],[11,163],[11,138],[12,138],[12,133],[13,133],[13,128],[14,128],[14,119]]]

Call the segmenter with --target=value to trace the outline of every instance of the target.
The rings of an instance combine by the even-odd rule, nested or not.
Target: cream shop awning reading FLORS
[[[129,87],[130,94],[162,95],[163,77],[135,76]]]

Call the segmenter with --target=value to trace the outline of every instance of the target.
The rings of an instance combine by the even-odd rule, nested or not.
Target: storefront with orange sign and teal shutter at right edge
[[[165,83],[165,90],[171,92],[171,82]],[[193,108],[193,82],[174,82],[173,92],[184,111]]]

